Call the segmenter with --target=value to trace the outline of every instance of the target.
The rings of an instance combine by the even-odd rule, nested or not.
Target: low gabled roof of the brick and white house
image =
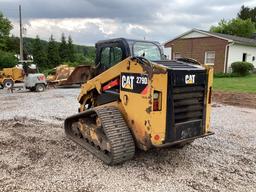
[[[199,30],[199,29],[192,29],[186,33],[181,34],[180,36],[168,40],[164,43],[164,45],[166,45],[167,43],[170,43],[171,41],[174,41],[176,39],[179,39],[189,33],[192,32],[198,32],[204,35],[209,35],[209,36],[213,36],[216,38],[220,38],[220,39],[224,39],[227,40],[231,43],[238,43],[238,44],[242,44],[242,45],[248,45],[248,46],[256,46],[256,39],[250,39],[250,38],[245,38],[245,37],[239,37],[239,36],[235,36],[235,35],[227,35],[227,34],[222,34],[222,33],[214,33],[214,32],[209,32],[209,31],[204,31],[204,30]]]

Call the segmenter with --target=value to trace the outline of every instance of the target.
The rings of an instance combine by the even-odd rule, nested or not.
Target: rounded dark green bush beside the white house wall
[[[232,63],[231,68],[232,68],[232,73],[235,73],[239,76],[246,76],[253,71],[254,66],[252,63],[238,61],[238,62]]]

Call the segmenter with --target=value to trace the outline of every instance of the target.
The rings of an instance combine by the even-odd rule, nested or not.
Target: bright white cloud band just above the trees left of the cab
[[[12,34],[19,35],[18,20],[12,20]],[[61,33],[78,34],[78,33],[102,33],[103,36],[113,35],[119,29],[119,23],[113,19],[29,19],[23,21],[23,27],[26,29],[27,37],[39,35],[40,38],[47,40],[50,34],[53,34],[55,39],[60,39]],[[85,37],[89,38],[89,37]],[[79,43],[79,40],[76,41]]]

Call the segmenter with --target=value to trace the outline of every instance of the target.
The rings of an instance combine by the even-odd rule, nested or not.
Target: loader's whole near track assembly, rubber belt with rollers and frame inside
[[[135,144],[121,113],[115,107],[94,107],[65,120],[65,133],[104,163],[131,159]]]

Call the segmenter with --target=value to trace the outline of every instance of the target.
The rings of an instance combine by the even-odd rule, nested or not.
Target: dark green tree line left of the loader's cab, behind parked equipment
[[[18,63],[19,37],[10,36],[12,23],[0,12],[0,69],[13,67]],[[24,59],[33,56],[33,62],[40,70],[54,68],[60,64],[76,66],[79,64],[93,64],[95,48],[90,46],[73,44],[72,37],[61,35],[60,42],[57,42],[53,35],[49,41],[41,40],[39,36],[35,39],[23,38]]]

